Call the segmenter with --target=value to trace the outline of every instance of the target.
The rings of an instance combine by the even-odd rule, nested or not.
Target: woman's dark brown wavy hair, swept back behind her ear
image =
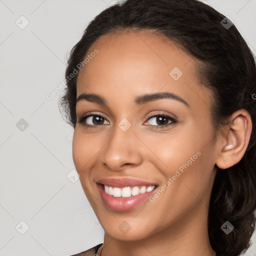
[[[221,22],[225,16],[198,0],[124,0],[99,13],[69,53],[66,88],[59,101],[67,122],[76,124],[77,64],[100,36],[125,29],[152,29],[176,42],[197,60],[198,78],[214,92],[211,107],[216,130],[241,108],[252,119],[252,133],[242,159],[219,169],[214,180],[208,213],[208,235],[218,255],[236,256],[250,246],[256,208],[256,65],[255,57],[235,25]],[[221,225],[234,229],[226,234]]]

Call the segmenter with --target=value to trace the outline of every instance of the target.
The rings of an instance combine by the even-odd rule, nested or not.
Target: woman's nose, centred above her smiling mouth
[[[142,147],[139,142],[131,127],[123,131],[116,125],[99,159],[114,171],[120,171],[127,165],[137,166],[142,162]]]

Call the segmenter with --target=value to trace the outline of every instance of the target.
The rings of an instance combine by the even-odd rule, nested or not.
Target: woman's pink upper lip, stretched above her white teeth
[[[155,183],[145,181],[137,178],[100,178],[96,183],[112,187],[125,187],[125,186],[153,186]]]

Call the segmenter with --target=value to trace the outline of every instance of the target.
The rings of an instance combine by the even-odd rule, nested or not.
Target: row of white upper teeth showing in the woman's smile
[[[129,197],[131,195],[143,194],[145,192],[150,192],[154,189],[154,186],[133,186],[133,187],[112,187],[104,185],[104,190],[107,194],[112,195],[114,197]]]

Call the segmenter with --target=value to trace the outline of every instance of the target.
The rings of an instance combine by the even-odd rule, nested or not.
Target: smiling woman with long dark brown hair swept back
[[[197,0],[126,0],[72,48],[60,106],[103,243],[76,255],[234,256],[255,227],[256,67]]]

